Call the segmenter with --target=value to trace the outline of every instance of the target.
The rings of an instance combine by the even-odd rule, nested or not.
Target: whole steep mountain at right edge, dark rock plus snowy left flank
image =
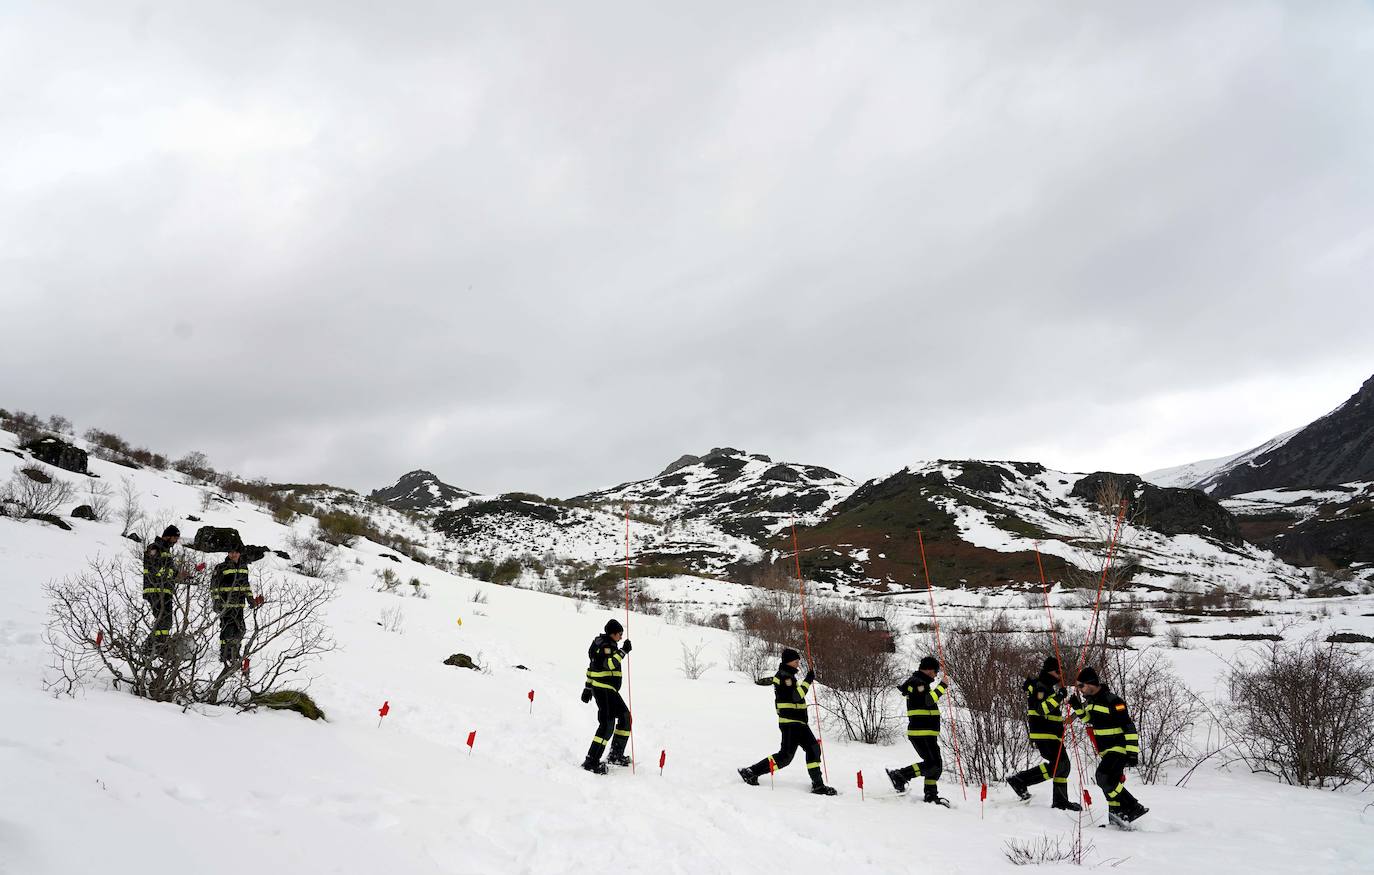
[[[1301,429],[1224,459],[1151,471],[1145,479],[1217,497],[1374,479],[1374,376],[1338,408]]]

